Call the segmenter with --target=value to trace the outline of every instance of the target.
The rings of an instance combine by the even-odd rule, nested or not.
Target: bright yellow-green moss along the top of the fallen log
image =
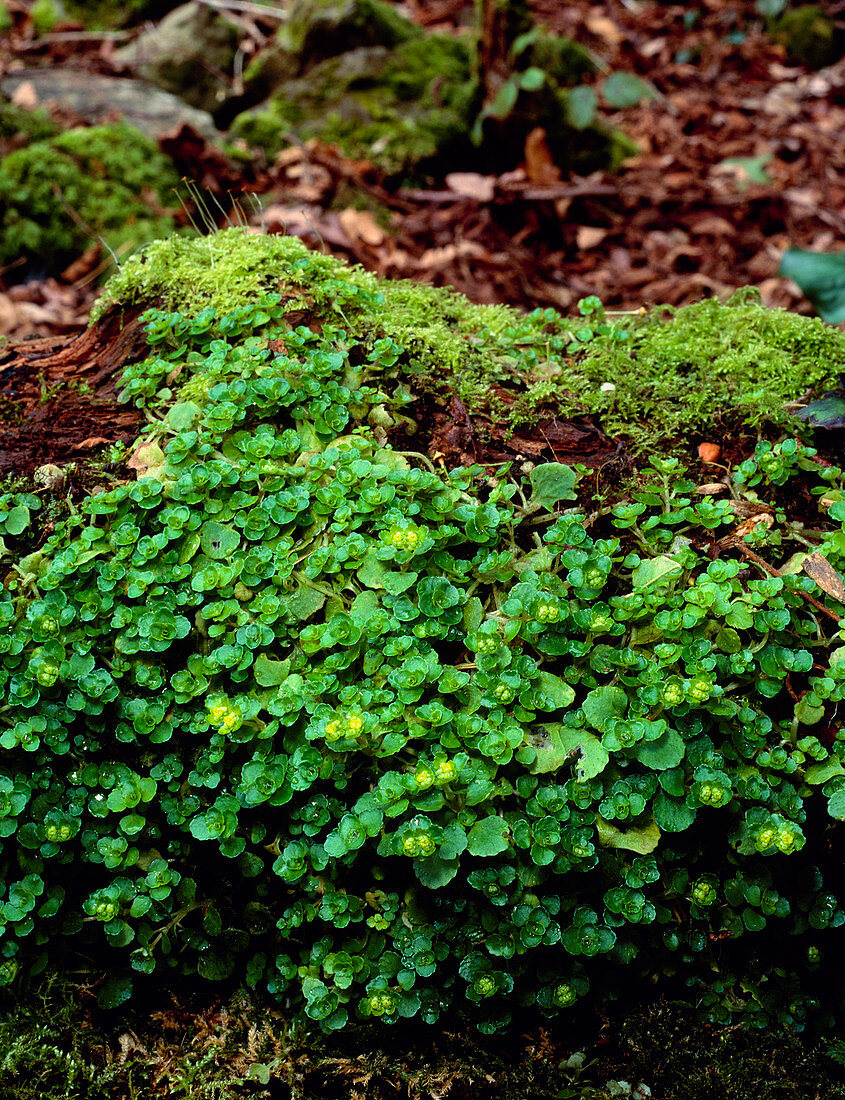
[[[593,415],[638,452],[739,422],[794,428],[786,406],[845,371],[844,333],[764,309],[753,292],[626,318],[623,329],[601,315],[476,306],[449,289],[380,280],[294,238],[237,229],[151,245],[111,280],[99,312],[155,302],[224,314],[279,290],[309,320],[391,337],[404,349],[393,376],[417,393],[456,393],[472,411],[514,424],[539,409]]]

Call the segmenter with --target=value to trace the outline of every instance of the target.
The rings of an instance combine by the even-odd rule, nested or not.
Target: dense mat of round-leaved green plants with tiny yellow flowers
[[[327,1032],[633,981],[830,1019],[842,470],[761,441],[714,497],[655,454],[605,503],[559,463],[437,469],[386,439],[434,354],[389,307],[479,307],[272,248],[281,293],[145,314],[136,481],[30,553],[37,501],[0,502],[3,980],[231,979]],[[581,323],[482,312],[500,350]]]

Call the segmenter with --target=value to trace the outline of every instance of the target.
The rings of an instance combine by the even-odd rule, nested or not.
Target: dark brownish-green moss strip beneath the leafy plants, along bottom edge
[[[47,979],[17,1003],[0,1002],[0,1100],[147,1100],[165,1090],[230,1100],[260,1096],[264,1067],[272,1094],[293,1087],[300,1100],[348,1096],[354,1072],[370,1077],[367,1100],[395,1096],[397,1082],[414,1097],[451,1084],[464,1100],[610,1100],[625,1094],[615,1084],[621,1077],[679,1100],[842,1096],[832,1066],[806,1040],[781,1028],[705,1030],[692,1013],[660,1001],[617,1012],[613,1054],[605,1038],[596,1062],[591,1054],[567,1058],[575,1042],[592,1046],[592,1032],[578,1026],[562,1042],[542,1032],[485,1040],[467,1030],[376,1038],[372,1028],[350,1027],[350,1035],[325,1036],[292,1027],[254,994],[235,993],[213,1013],[207,999],[194,1004],[183,997],[174,1005],[162,996],[158,1011],[99,1018],[88,992]]]

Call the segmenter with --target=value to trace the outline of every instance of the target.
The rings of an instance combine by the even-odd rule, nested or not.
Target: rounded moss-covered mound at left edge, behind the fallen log
[[[125,251],[173,232],[171,162],[123,124],[68,130],[0,162],[0,260],[62,262],[102,237]]]

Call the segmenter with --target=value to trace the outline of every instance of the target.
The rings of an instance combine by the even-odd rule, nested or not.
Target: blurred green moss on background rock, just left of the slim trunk
[[[394,50],[366,46],[320,62],[240,114],[232,134],[271,154],[290,133],[317,138],[402,172],[468,142],[473,96],[468,44],[427,34]]]

